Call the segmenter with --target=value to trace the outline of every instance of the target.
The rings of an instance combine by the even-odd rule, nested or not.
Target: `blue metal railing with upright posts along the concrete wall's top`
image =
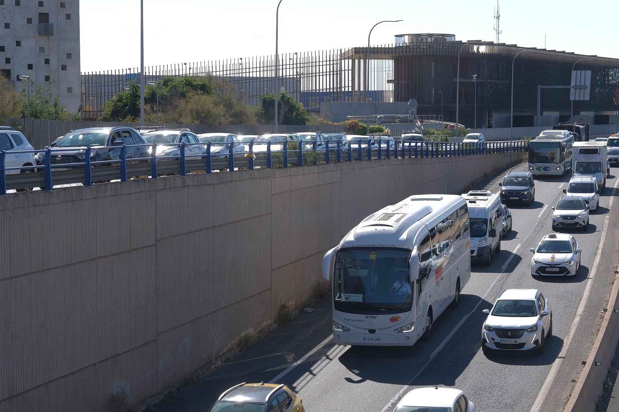
[[[292,145],[291,145],[292,144]],[[200,150],[202,153],[193,153],[187,154],[187,149],[189,147],[200,146],[204,148],[204,152]],[[217,147],[222,147],[223,145],[227,145],[227,147],[223,147],[221,150],[217,150]],[[291,145],[291,148],[288,146]],[[212,173],[213,171],[213,160],[220,159],[222,157],[227,157],[227,169],[228,171],[235,170],[235,158],[239,160],[240,158],[248,158],[247,166],[249,170],[253,170],[255,168],[255,161],[258,158],[261,158],[261,163],[266,164],[267,168],[274,167],[274,157],[277,157],[277,163],[275,165],[282,165],[287,168],[290,166],[290,156],[294,159],[296,157],[296,162],[293,160],[293,165],[303,166],[305,163],[304,160],[311,158],[309,153],[313,153],[313,160],[311,163],[316,165],[318,163],[318,154],[324,153],[324,162],[326,164],[332,163],[335,161],[336,163],[341,163],[342,161],[353,161],[353,152],[357,152],[357,161],[364,160],[383,160],[383,159],[394,159],[397,158],[435,158],[435,157],[461,157],[461,156],[470,156],[470,155],[487,155],[487,154],[495,154],[495,153],[508,153],[508,152],[526,152],[528,150],[528,144],[525,140],[514,140],[508,142],[486,142],[482,144],[476,143],[462,143],[462,142],[412,142],[412,141],[402,141],[402,140],[390,140],[390,139],[350,139],[348,142],[342,142],[341,140],[337,140],[337,142],[329,142],[329,144],[324,144],[322,142],[321,147],[318,147],[318,142],[316,140],[310,141],[287,141],[287,140],[279,140],[279,141],[269,141],[266,144],[259,142],[249,142],[248,150],[245,148],[242,152],[235,152],[234,146],[227,142],[223,143],[211,143],[206,142],[202,144],[149,144],[148,157],[141,158],[127,158],[127,150],[131,147],[144,147],[144,145],[119,145],[112,147],[85,147],[84,148],[84,161],[80,161],[77,163],[61,163],[61,164],[52,164],[51,157],[52,153],[55,156],[59,157],[64,152],[76,152],[76,148],[47,148],[45,150],[23,150],[23,151],[11,151],[5,152],[4,150],[0,151],[0,194],[6,194],[7,192],[7,174],[15,174],[21,173],[23,170],[27,171],[42,171],[43,172],[43,186],[41,189],[45,188],[46,190],[50,190],[54,186],[54,175],[56,173],[61,173],[61,170],[57,169],[69,169],[69,170],[84,170],[84,176],[79,181],[74,181],[74,183],[82,182],[85,186],[92,186],[93,184],[93,168],[105,166],[105,165],[118,165],[119,166],[119,178],[120,181],[125,182],[128,180],[128,163],[135,163],[136,161],[141,162],[150,162],[150,178],[158,178],[158,163],[160,161],[173,161],[178,160],[178,174],[181,176],[186,176],[187,174],[187,161],[195,158],[202,158],[204,160],[204,170],[206,173]],[[256,150],[256,147],[259,147]],[[162,154],[157,153],[158,147],[178,147],[178,153],[171,154]],[[274,147],[276,150],[274,150]],[[119,149],[118,156],[111,160],[97,160],[93,161],[91,158],[91,153],[94,150],[108,150],[111,152],[111,149]],[[227,149],[227,150],[225,150]],[[79,149],[77,150],[79,151]],[[332,153],[335,152],[335,158],[332,159]],[[342,152],[345,152],[346,157],[342,157]],[[6,167],[6,155],[7,153],[11,154],[20,154],[20,153],[33,153],[37,155],[41,153],[43,155],[43,160],[39,161],[37,165],[34,166],[12,166]],[[74,155],[74,154],[72,154]],[[79,154],[79,156],[82,156]],[[40,160],[40,157],[39,157]],[[245,164],[245,162],[243,162]],[[222,163],[218,163],[217,166],[222,166]],[[163,167],[163,166],[162,166]],[[219,169],[222,170],[222,169]],[[58,175],[56,175],[58,176]],[[32,186],[30,186],[32,187]]]

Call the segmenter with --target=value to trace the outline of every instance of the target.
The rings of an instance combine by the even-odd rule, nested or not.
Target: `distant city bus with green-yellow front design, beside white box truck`
[[[572,167],[574,135],[566,130],[545,130],[529,142],[529,171],[533,176],[562,176]]]

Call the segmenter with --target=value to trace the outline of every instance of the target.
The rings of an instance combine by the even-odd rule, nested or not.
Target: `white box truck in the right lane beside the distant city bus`
[[[606,142],[574,142],[572,176],[595,176],[597,186],[603,190],[609,169]]]

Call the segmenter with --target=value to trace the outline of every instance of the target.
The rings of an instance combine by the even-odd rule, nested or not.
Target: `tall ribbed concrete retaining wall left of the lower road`
[[[522,153],[195,174],[0,199],[0,411],[136,406],[298,307],[324,253],[407,195]],[[115,406],[116,405],[116,406]]]

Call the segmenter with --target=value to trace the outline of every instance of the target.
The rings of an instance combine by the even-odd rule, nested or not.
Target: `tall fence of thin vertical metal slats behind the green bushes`
[[[392,59],[372,58],[369,65],[367,87],[364,59],[358,54],[348,56],[347,50],[341,48],[280,54],[277,85],[274,56],[150,66],[145,67],[144,81],[166,76],[213,75],[227,79],[235,86],[236,97],[251,105],[258,104],[261,95],[283,88],[306,109],[318,111],[319,101],[361,101],[362,90],[368,89],[372,101],[391,101],[393,85],[387,80],[393,79]],[[128,82],[138,79],[138,68],[82,73],[84,119],[100,118],[106,101]]]

